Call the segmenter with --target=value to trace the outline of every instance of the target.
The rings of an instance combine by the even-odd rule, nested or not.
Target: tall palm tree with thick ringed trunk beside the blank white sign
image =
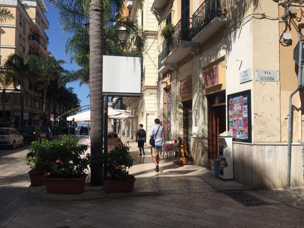
[[[142,2],[142,0],[137,0]],[[79,35],[79,25],[90,21],[90,37],[89,37],[89,86],[90,86],[90,105],[91,105],[91,155],[93,161],[97,161],[97,153],[103,144],[103,96],[102,91],[102,54],[104,50],[104,26],[111,25],[120,27],[124,25],[129,31],[136,45],[142,45],[143,48],[137,47],[138,50],[144,49],[145,35],[143,30],[137,26],[136,22],[128,22],[126,18],[116,15],[122,15],[123,7],[121,0],[48,0],[51,4],[60,9],[59,23],[62,25],[64,32],[71,32],[74,36]],[[115,22],[115,24],[113,23]],[[105,29],[107,31],[107,29]],[[118,36],[118,35],[117,35]],[[116,37],[117,37],[116,36]],[[82,41],[86,38],[81,36]],[[76,39],[69,40],[75,42]],[[78,39],[79,40],[79,39]],[[141,40],[141,41],[140,41]],[[113,49],[114,45],[119,46],[119,42],[112,42],[109,47]],[[77,44],[78,45],[78,44]],[[68,44],[68,47],[74,47]],[[114,48],[115,49],[115,48]],[[121,48],[120,48],[121,49]],[[119,50],[120,50],[119,49]],[[82,54],[78,49],[72,54],[74,60],[81,60],[81,65],[88,67],[86,58],[78,58],[76,55]],[[85,62],[83,62],[85,61]],[[83,69],[85,67],[82,67]],[[76,71],[75,71],[76,72]],[[75,78],[75,72],[73,77]],[[88,72],[82,70],[80,73]],[[88,78],[84,74],[79,74],[82,78]],[[76,75],[77,76],[77,75]],[[85,81],[85,80],[84,80]],[[93,163],[91,169],[91,185],[102,185],[102,166],[98,162]]]

